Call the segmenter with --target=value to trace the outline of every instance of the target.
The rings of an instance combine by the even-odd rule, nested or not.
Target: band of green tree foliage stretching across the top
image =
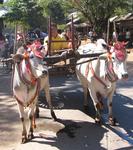
[[[7,20],[29,27],[47,28],[47,18],[64,24],[73,11],[82,12],[81,18],[88,20],[97,32],[106,32],[110,17],[133,11],[132,0],[10,0]]]

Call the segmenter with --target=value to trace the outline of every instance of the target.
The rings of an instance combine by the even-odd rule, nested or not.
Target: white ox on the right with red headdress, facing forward
[[[97,45],[90,44],[90,47],[88,44],[85,49],[82,46],[78,51],[81,54],[89,53],[90,49],[93,48],[95,52],[97,52],[97,50],[105,52],[105,42],[102,39],[99,39],[98,43],[99,44]],[[98,45],[100,45],[100,47]],[[125,44],[120,42],[116,43],[114,47],[111,48],[111,51],[108,50],[106,52],[106,54],[99,56],[97,60],[78,65],[76,67],[76,74],[83,86],[85,106],[88,105],[87,91],[89,90],[90,92],[96,110],[95,121],[98,123],[101,122],[100,110],[103,108],[102,99],[107,98],[109,123],[114,125],[115,119],[112,114],[112,98],[116,88],[116,81],[118,79],[128,78],[126,69],[127,53]],[[87,59],[80,59],[78,63],[84,62],[85,60]]]

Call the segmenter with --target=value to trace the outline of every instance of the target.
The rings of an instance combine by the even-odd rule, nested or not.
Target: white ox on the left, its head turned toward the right
[[[13,75],[13,94],[17,100],[19,114],[22,121],[22,143],[33,138],[33,129],[35,125],[35,110],[39,91],[44,89],[47,102],[51,109],[51,115],[56,116],[52,109],[51,97],[49,92],[48,69],[43,64],[43,57],[39,51],[24,53],[24,48],[18,49],[17,54],[13,56],[15,62]],[[28,110],[30,119],[29,130],[26,129],[25,109]]]

